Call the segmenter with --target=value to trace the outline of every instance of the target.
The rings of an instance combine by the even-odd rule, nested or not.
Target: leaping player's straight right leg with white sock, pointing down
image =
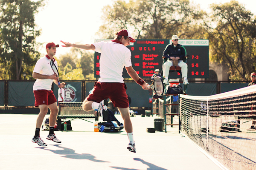
[[[127,133],[129,144],[127,149],[131,152],[136,152],[135,142],[134,142],[134,136],[133,136],[133,128],[129,113],[129,107],[128,108],[118,108],[118,110],[121,113],[122,119],[124,120],[124,127],[125,131]]]

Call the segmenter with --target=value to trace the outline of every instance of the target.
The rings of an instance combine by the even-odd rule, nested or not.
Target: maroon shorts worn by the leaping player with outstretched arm
[[[87,96],[87,100],[101,102],[103,99],[111,99],[114,107],[128,108],[129,100],[126,94],[125,83],[120,82],[96,82],[94,90]]]

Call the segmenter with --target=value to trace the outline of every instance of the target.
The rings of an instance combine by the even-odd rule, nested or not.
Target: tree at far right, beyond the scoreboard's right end
[[[211,60],[224,62],[230,68],[231,80],[249,79],[255,71],[256,21],[253,14],[237,1],[212,4],[209,32]]]

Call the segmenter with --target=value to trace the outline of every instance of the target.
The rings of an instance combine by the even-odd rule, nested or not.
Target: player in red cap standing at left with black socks
[[[41,139],[39,132],[44,120],[44,116],[48,112],[48,108],[51,111],[49,118],[50,129],[49,135],[46,139],[61,143],[61,141],[58,140],[54,134],[54,126],[57,119],[58,107],[57,100],[52,92],[52,82],[58,85],[58,77],[56,74],[54,74],[50,65],[50,61],[52,61],[58,68],[57,61],[53,58],[53,56],[56,54],[57,47],[59,47],[59,45],[56,45],[53,42],[47,43],[47,55],[41,59],[38,59],[33,71],[33,78],[36,79],[33,86],[33,92],[35,95],[35,107],[39,107],[40,113],[38,114],[36,121],[35,136],[32,138],[32,142],[37,143],[40,146],[47,146],[47,144],[44,143],[44,141]],[[58,85],[58,88],[62,87],[63,84]]]

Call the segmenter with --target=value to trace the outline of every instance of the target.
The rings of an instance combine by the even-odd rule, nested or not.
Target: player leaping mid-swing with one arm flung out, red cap
[[[124,120],[125,131],[128,135],[129,143],[127,149],[136,152],[133,128],[129,113],[129,100],[126,94],[126,85],[123,81],[122,71],[125,67],[127,73],[134,79],[144,90],[148,90],[148,83],[134,71],[131,65],[131,51],[126,47],[130,42],[135,42],[128,30],[123,29],[116,32],[116,37],[108,42],[95,42],[93,44],[72,44],[64,42],[63,47],[76,47],[85,50],[93,50],[101,53],[99,59],[99,80],[94,85],[94,90],[87,96],[83,102],[83,109],[90,111],[98,110],[102,119],[108,119],[108,101],[111,99],[114,107],[117,107]]]

